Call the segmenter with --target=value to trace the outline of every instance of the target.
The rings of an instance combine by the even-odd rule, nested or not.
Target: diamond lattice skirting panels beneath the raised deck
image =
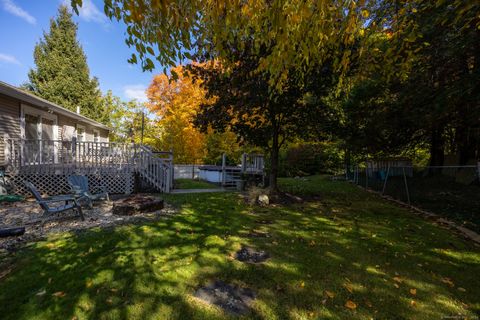
[[[111,194],[130,194],[134,190],[134,174],[131,171],[86,174],[89,187],[106,186]],[[30,195],[23,181],[30,181],[40,192],[48,195],[69,193],[66,174],[26,174],[19,173],[8,177],[16,194]]]

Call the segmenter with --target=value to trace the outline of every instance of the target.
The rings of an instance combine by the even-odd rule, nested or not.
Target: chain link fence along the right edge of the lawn
[[[480,232],[480,165],[348,168],[347,180]]]

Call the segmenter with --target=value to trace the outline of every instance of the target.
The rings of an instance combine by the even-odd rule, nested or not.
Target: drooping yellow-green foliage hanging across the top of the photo
[[[257,71],[268,72],[270,86],[281,89],[292,69],[315,68],[331,58],[331,49],[341,51],[333,62],[345,72],[352,60],[349,47],[370,21],[370,2],[376,1],[105,0],[104,11],[127,25],[126,43],[135,50],[129,61],[144,70],[157,62],[174,66],[192,53],[226,63],[231,60],[225,43],[250,39],[256,54],[270,48]],[[78,13],[82,1],[72,5]]]

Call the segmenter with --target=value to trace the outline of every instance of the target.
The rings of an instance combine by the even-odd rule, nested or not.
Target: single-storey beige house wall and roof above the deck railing
[[[28,160],[35,157],[33,149],[41,147],[45,150],[37,152],[38,156],[48,152],[53,160],[58,159],[60,152],[55,143],[73,139],[108,142],[108,135],[107,126],[0,81],[0,163],[8,160],[7,141],[30,143]]]

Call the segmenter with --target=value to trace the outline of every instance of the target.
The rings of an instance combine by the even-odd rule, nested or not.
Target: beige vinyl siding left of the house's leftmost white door
[[[20,138],[20,102],[0,94],[0,163],[5,161],[4,138]]]

